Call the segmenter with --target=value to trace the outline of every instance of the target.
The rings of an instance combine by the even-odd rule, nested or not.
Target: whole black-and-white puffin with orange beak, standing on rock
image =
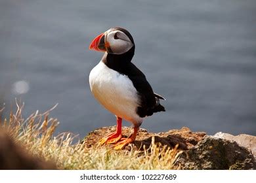
[[[121,150],[135,141],[146,116],[165,111],[160,104],[160,99],[165,99],[153,92],[146,76],[131,62],[135,42],[126,29],[108,29],[93,39],[89,49],[104,52],[89,75],[91,92],[117,119],[116,131],[101,139],[100,144],[113,144],[114,149]],[[127,138],[121,134],[123,119],[133,124],[133,133]]]

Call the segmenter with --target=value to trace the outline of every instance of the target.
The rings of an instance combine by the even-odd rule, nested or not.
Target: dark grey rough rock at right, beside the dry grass
[[[183,152],[177,163],[182,169],[255,169],[253,154],[236,142],[205,136],[190,150]]]

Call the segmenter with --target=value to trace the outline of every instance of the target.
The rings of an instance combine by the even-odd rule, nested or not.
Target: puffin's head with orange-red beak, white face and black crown
[[[135,44],[131,34],[123,28],[115,27],[95,37],[89,49],[119,55],[128,52],[133,46]]]

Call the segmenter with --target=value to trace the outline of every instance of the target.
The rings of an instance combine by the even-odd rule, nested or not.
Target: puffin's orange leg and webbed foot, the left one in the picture
[[[116,117],[116,132],[108,134],[106,137],[100,140],[100,144],[113,144],[118,142],[122,135],[121,135],[121,130],[122,130],[122,118],[119,118],[118,116]]]

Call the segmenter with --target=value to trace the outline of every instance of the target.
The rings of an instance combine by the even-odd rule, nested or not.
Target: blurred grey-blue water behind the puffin
[[[25,116],[58,103],[58,132],[115,125],[88,82],[102,57],[88,46],[115,26],[131,32],[133,63],[167,99],[143,128],[256,135],[255,0],[1,0],[1,100],[21,97]]]

